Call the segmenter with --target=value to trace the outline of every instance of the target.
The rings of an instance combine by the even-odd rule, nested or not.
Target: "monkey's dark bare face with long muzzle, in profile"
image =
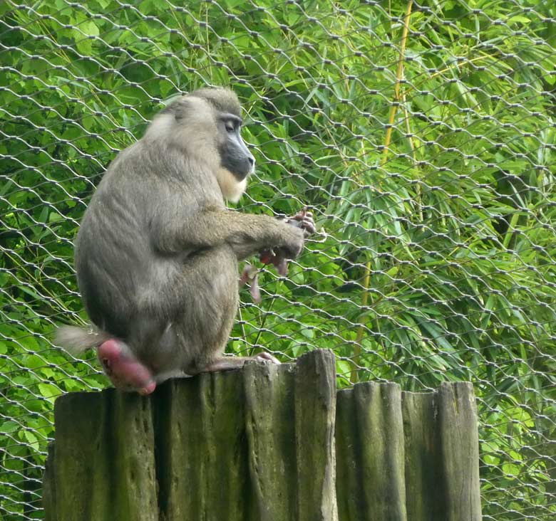
[[[232,174],[241,183],[254,170],[254,157],[242,139],[242,120],[235,114],[219,113],[218,153],[220,167]]]

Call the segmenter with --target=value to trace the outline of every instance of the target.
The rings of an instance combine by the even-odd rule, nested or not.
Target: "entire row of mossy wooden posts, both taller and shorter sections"
[[[327,350],[68,394],[55,422],[46,521],[480,521],[470,384],[336,394]]]

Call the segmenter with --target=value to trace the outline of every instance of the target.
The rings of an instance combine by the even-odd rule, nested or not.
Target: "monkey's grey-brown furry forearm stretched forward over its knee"
[[[295,258],[303,248],[304,232],[269,216],[241,214],[214,209],[200,211],[164,228],[152,226],[153,246],[160,253],[180,253],[197,249],[232,247],[238,260],[268,248],[281,248],[287,258]]]

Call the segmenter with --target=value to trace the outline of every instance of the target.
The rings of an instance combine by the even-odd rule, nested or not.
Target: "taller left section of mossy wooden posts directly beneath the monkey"
[[[334,354],[56,401],[47,521],[336,521]]]

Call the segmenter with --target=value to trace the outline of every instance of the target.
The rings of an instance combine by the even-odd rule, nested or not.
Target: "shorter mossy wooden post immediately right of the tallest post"
[[[336,458],[341,520],[407,520],[398,385],[338,391]]]

